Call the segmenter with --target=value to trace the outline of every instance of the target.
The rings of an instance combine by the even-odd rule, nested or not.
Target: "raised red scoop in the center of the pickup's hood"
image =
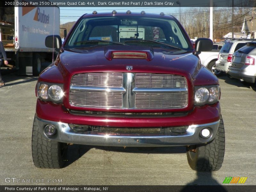
[[[154,58],[154,52],[151,49],[143,49],[146,47],[136,46],[125,46],[125,49],[113,49],[114,47],[106,47],[105,48],[105,57],[108,60],[112,59],[145,59],[150,61]],[[119,48],[119,47],[118,47]],[[123,47],[122,47],[123,48]],[[148,48],[148,47],[147,47]]]

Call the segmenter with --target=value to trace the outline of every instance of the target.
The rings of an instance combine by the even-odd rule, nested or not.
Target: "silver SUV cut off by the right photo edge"
[[[228,74],[233,78],[249,83],[255,83],[255,59],[256,41],[249,42],[246,46],[234,52],[232,55],[231,66],[228,67]]]

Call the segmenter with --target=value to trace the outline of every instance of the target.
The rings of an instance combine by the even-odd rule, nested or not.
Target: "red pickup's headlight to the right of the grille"
[[[216,103],[220,98],[219,85],[196,86],[194,91],[195,104],[198,106]]]

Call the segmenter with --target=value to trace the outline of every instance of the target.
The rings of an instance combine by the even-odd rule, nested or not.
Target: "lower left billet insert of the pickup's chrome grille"
[[[122,93],[120,92],[89,92],[83,90],[71,91],[70,103],[77,107],[89,108],[122,108]]]

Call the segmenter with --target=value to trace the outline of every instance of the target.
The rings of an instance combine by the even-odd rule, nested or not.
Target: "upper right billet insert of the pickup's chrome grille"
[[[136,87],[138,88],[176,88],[186,86],[187,81],[184,76],[154,73],[136,74]]]

